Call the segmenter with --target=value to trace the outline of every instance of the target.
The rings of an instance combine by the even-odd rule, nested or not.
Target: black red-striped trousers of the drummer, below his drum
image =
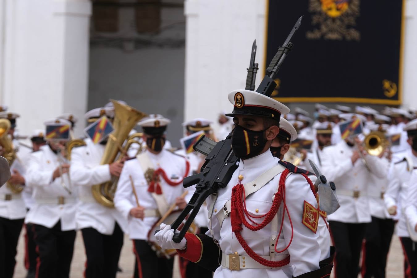
[[[136,256],[134,278],[171,278],[174,258],[158,258],[146,240],[133,240]]]

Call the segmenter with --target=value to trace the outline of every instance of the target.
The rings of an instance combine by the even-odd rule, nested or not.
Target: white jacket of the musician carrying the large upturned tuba
[[[73,185],[78,186],[79,196],[75,213],[77,229],[94,228],[104,235],[111,235],[117,221],[126,232],[127,221],[118,210],[97,203],[91,193],[93,185],[111,179],[109,165],[100,165],[105,146],[94,144],[89,138],[85,143],[71,152],[70,177]]]

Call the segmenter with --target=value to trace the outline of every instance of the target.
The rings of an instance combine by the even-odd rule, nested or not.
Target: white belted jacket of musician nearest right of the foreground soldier
[[[337,145],[324,148],[322,156],[322,173],[327,180],[336,184],[336,193],[340,208],[328,216],[329,221],[343,223],[369,223],[369,198],[367,187],[370,172],[384,178],[388,165],[376,156],[365,155],[369,170],[364,161],[359,158],[352,164],[352,153],[355,147],[350,147],[342,140]]]

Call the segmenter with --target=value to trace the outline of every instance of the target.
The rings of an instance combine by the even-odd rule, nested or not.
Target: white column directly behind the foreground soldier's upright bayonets
[[[256,39],[259,84],[264,66],[265,0],[186,0],[185,120],[215,120],[244,89]]]

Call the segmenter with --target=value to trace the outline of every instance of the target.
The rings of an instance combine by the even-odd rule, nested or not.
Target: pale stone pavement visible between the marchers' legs
[[[15,278],[25,278],[26,269],[23,264],[24,258],[24,230],[20,235],[19,245],[18,245],[18,255],[17,255],[17,265],[15,269]],[[77,233],[77,238],[75,240],[75,251],[73,262],[71,265],[71,278],[82,278],[84,271],[85,263],[85,253],[83,246],[83,238],[81,233]],[[121,254],[121,260],[119,262],[120,267],[123,269],[122,273],[118,273],[117,278],[132,278],[133,268],[134,268],[134,256],[132,253],[132,242],[129,240],[128,236],[125,236],[125,242],[123,245],[123,250]],[[174,269],[174,278],[180,278],[178,273],[178,263],[175,262]],[[403,255],[402,248],[399,240],[394,236],[391,244],[391,250],[389,251],[388,256],[388,266],[387,266],[387,278],[402,278],[403,275]]]

